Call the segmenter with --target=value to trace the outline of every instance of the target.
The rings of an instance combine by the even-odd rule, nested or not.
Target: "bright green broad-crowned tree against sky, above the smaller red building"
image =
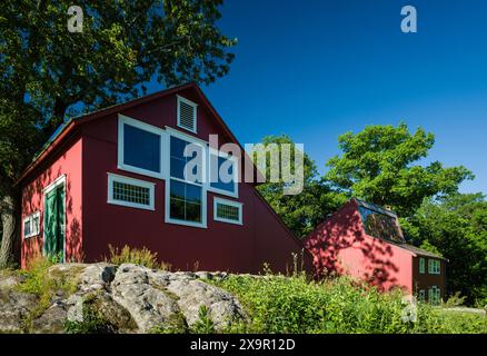
[[[328,160],[325,179],[348,197],[390,206],[399,216],[413,215],[425,197],[456,192],[473,178],[463,166],[419,165],[435,137],[421,128],[411,134],[406,123],[367,126],[339,136],[338,142],[342,155]]]

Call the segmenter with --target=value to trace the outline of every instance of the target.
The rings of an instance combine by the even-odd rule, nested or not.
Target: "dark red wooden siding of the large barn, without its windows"
[[[197,93],[192,88],[178,92],[199,103],[196,137],[208,141],[210,134],[218,134],[220,145],[229,142],[230,136],[215,119],[212,111],[199,100]],[[171,95],[122,109],[120,113],[159,128],[169,126],[179,129],[176,125],[176,95]],[[85,261],[100,260],[108,254],[109,244],[119,247],[127,244],[133,247],[145,246],[158,253],[160,260],[170,263],[178,269],[258,273],[264,263],[269,263],[275,270],[286,271],[292,265],[291,254],[301,251],[300,241],[259,197],[252,184],[239,184],[238,198],[221,196],[244,204],[241,226],[213,220],[213,197],[219,195],[212,192],[207,194],[207,228],[165,222],[165,180],[117,168],[118,113],[112,112],[86,122],[79,132],[79,146],[76,146],[76,150],[61,150],[61,157],[64,158],[53,168],[67,175],[67,195],[73,200],[71,206],[76,205],[76,208],[72,207],[67,212],[71,225],[69,233],[67,231],[70,246],[68,257],[79,259],[82,253]],[[107,204],[109,172],[156,184],[155,210]],[[39,188],[49,184],[49,179],[41,178],[44,174],[33,174]],[[30,194],[26,198],[33,201],[39,199],[39,192]],[[24,214],[27,211],[26,209]],[[36,239],[34,244],[39,246],[41,240]],[[33,250],[24,245],[22,260]],[[305,254],[305,265],[311,268],[308,254]]]

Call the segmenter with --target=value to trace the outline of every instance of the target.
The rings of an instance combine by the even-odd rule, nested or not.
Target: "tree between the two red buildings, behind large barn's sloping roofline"
[[[281,154],[279,145],[291,145],[292,166],[296,149],[294,141],[286,135],[268,136],[262,139],[262,145],[266,147],[271,144],[278,145],[279,155]],[[258,186],[258,190],[296,236],[304,237],[309,234],[326,219],[327,215],[345,202],[345,196],[335,194],[319,178],[315,161],[308,155],[304,155],[304,187],[298,195],[284,194],[285,182],[281,176],[279,181],[270,182],[269,160],[270,154],[267,156],[266,182]]]

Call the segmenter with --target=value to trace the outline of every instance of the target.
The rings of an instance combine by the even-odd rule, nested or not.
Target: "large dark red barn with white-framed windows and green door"
[[[209,135],[238,144],[192,83],[68,121],[18,182],[22,266],[36,254],[100,260],[109,244],[127,244],[185,270],[290,268],[301,243],[255,184],[237,179],[245,155],[211,149]],[[187,181],[189,144],[200,145],[207,161],[229,165],[233,178]],[[304,258],[311,266],[310,255]]]

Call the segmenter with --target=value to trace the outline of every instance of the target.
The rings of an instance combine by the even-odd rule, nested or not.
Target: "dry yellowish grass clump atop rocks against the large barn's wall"
[[[148,268],[155,268],[155,269],[162,269],[162,270],[171,269],[171,266],[169,264],[159,263],[157,260],[157,253],[152,253],[146,247],[139,249],[126,245],[121,249],[119,249],[118,247],[108,245],[108,248],[110,256],[105,257],[105,260],[110,264],[113,265],[135,264]]]

